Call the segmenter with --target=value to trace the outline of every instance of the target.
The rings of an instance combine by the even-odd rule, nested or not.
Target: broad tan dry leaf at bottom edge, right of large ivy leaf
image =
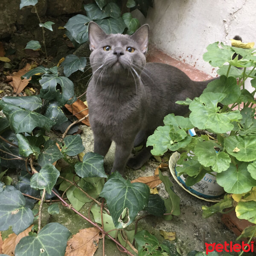
[[[99,245],[100,231],[96,227],[79,230],[67,241],[65,256],[93,256]]]

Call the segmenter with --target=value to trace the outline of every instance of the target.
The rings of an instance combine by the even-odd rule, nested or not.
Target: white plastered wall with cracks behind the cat
[[[203,60],[206,47],[216,41],[230,44],[235,35],[256,41],[256,0],[154,0],[146,23],[151,43],[214,76],[216,69]]]

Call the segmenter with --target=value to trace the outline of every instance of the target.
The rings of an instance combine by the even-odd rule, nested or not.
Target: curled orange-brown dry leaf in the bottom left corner
[[[24,236],[28,236],[29,232],[31,231],[33,224],[30,225],[26,230],[16,235],[15,233],[12,233],[3,241],[3,254],[7,254],[10,256],[14,256],[14,251],[16,245],[19,243],[20,239],[22,239]]]

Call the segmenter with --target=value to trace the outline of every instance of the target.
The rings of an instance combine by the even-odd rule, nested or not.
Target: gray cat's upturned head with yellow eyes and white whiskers
[[[93,71],[97,69],[102,71],[106,67],[110,75],[111,73],[134,73],[134,70],[141,73],[145,66],[145,53],[148,49],[149,26],[147,24],[137,29],[133,35],[108,35],[96,23],[90,22],[88,33],[92,51],[90,64]]]

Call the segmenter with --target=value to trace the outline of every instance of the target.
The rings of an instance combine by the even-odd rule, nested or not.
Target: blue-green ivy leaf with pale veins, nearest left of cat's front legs
[[[76,156],[84,150],[83,141],[79,134],[70,135],[64,139],[64,146],[61,150],[62,154],[70,157]]]

